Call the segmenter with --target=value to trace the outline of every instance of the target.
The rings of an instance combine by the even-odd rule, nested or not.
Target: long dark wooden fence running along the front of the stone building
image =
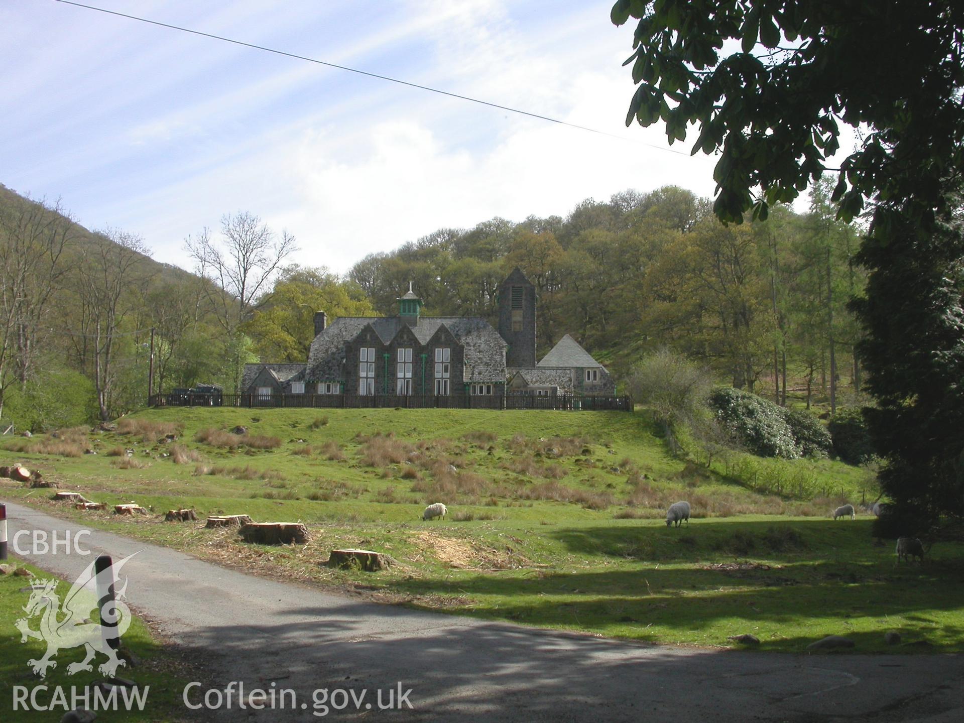
[[[632,411],[628,396],[535,396],[493,394],[452,396],[397,394],[154,394],[151,407],[245,407],[245,408],[337,408],[337,409],[547,409],[573,412]]]

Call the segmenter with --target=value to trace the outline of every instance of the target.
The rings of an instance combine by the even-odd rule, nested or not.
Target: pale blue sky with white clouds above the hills
[[[137,233],[161,261],[189,267],[185,236],[238,210],[292,232],[297,262],[344,272],[437,228],[564,216],[627,188],[713,192],[711,158],[624,125],[632,34],[611,0],[90,4],[627,139],[53,0],[0,3],[0,182]]]

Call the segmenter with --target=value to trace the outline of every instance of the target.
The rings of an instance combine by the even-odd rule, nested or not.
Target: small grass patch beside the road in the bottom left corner
[[[50,579],[47,573],[39,569],[25,565],[22,562],[11,560],[13,564],[23,570],[27,570],[34,576],[41,579]],[[61,581],[56,588],[56,593],[63,598],[70,588],[70,580]],[[0,576],[0,629],[4,632],[0,634],[0,691],[2,691],[5,721],[19,723],[23,721],[36,721],[38,716],[47,715],[48,720],[59,720],[67,710],[60,704],[55,703],[53,689],[55,686],[62,686],[66,691],[67,704],[71,701],[71,688],[84,688],[103,676],[97,672],[96,666],[102,663],[104,656],[97,654],[94,658],[94,670],[92,672],[78,672],[74,675],[67,674],[67,665],[71,662],[82,660],[83,649],[62,650],[54,658],[57,666],[48,671],[45,679],[36,676],[27,665],[27,660],[43,656],[46,644],[34,638],[28,638],[26,643],[20,642],[20,633],[14,629],[14,622],[24,617],[23,605],[27,603],[30,596],[29,588],[31,577],[7,575]],[[92,599],[92,604],[94,600]],[[96,616],[96,612],[92,614]],[[32,629],[38,629],[39,618],[31,618],[29,623]],[[129,665],[118,669],[121,678],[137,683],[139,689],[144,691],[146,688],[144,710],[139,710],[136,706],[132,710],[97,710],[97,720],[105,723],[110,721],[171,721],[182,718],[183,706],[180,695],[184,683],[185,670],[182,662],[178,660],[169,650],[158,642],[138,618],[133,618],[131,626],[123,636],[124,647],[133,654],[136,661],[134,667]],[[46,685],[48,689],[38,693],[37,701],[40,705],[50,705],[51,709],[47,713],[35,710],[13,710],[13,686],[21,685],[28,690],[34,689],[38,685]],[[93,693],[92,693],[93,695]],[[28,696],[29,700],[29,696]],[[119,699],[120,700],[120,699]],[[94,705],[93,698],[91,705]]]

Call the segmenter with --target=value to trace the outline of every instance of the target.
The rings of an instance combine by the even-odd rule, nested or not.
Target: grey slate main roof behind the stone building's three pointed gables
[[[308,380],[341,379],[345,342],[371,325],[383,344],[388,344],[405,324],[397,316],[340,316],[314,337],[308,352]],[[420,316],[411,329],[419,344],[445,327],[466,350],[466,382],[502,382],[505,379],[505,340],[480,316]]]

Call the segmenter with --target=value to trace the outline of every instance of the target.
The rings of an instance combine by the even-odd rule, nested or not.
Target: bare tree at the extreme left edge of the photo
[[[12,382],[34,374],[38,336],[64,281],[74,223],[60,201],[18,199],[0,213],[0,414]]]

